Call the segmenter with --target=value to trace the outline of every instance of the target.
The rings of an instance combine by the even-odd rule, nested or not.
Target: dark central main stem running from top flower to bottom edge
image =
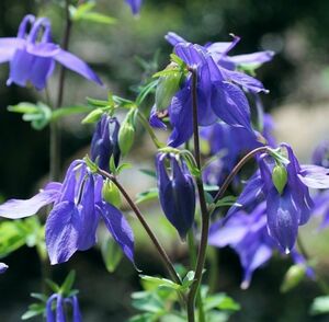
[[[197,120],[197,74],[195,69],[190,69],[192,72],[192,108],[193,108],[193,139],[194,139],[194,158],[197,165],[197,169],[201,172],[201,154],[200,154],[200,138],[198,138],[198,120]],[[203,188],[202,177],[198,175],[195,179],[196,187],[198,192],[201,217],[202,217],[202,229],[201,229],[201,241],[198,246],[196,267],[194,281],[191,286],[189,296],[188,296],[188,319],[189,322],[194,322],[194,308],[195,308],[195,297],[201,284],[202,272],[205,264],[206,257],[206,248],[208,241],[208,230],[209,230],[209,214],[207,210],[207,205],[205,200],[205,194]],[[202,302],[201,302],[202,306]]]

